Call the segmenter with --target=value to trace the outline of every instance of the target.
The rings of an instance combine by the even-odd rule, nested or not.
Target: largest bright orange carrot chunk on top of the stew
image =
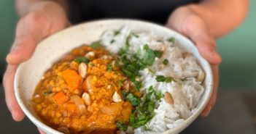
[[[82,77],[78,75],[75,70],[64,70],[61,72],[61,77],[65,79],[71,90],[79,88],[79,85],[82,82]]]

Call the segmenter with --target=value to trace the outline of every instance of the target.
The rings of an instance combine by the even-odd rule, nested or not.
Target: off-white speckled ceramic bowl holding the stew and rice
[[[23,109],[23,112],[36,127],[39,127],[46,133],[59,133],[57,130],[54,130],[52,127],[49,127],[42,122],[36,115],[30,102],[34,89],[42,78],[44,72],[49,69],[54,62],[58,61],[63,54],[71,51],[71,49],[81,46],[84,43],[90,44],[93,41],[97,41],[105,30],[118,30],[124,25],[128,25],[133,30],[152,31],[160,36],[174,36],[179,45],[193,53],[203,67],[203,70],[206,72],[204,82],[206,91],[201,97],[201,101],[199,102],[195,113],[185,120],[182,125],[167,130],[164,133],[180,133],[190,125],[196,117],[198,117],[211,97],[213,76],[209,63],[201,57],[198,53],[198,49],[196,49],[190,40],[174,30],[150,22],[142,22],[138,20],[99,20],[75,25],[51,35],[49,38],[46,38],[39,43],[31,59],[20,64],[18,67],[15,75],[15,96],[21,109]]]

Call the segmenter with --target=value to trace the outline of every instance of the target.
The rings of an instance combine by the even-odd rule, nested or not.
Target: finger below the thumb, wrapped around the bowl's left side
[[[17,100],[15,99],[14,93],[14,77],[15,72],[17,70],[16,65],[8,65],[7,71],[4,74],[4,93],[5,93],[5,101],[7,102],[7,107],[9,111],[12,113],[12,118],[15,121],[21,121],[25,117],[22,109],[18,105]]]

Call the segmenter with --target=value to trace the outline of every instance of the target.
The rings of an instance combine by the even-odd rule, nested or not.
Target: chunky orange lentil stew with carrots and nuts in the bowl
[[[36,113],[63,133],[117,133],[117,122],[128,122],[133,106],[122,99],[131,82],[115,62],[104,49],[74,49],[37,85]]]

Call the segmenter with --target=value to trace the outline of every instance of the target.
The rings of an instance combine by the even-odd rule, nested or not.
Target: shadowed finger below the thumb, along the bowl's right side
[[[214,75],[214,87],[213,87],[211,99],[209,100],[208,104],[206,105],[206,107],[203,109],[203,112],[201,113],[202,117],[207,117],[209,115],[217,99],[217,90],[219,86],[219,66],[218,65],[212,66],[212,71]]]

